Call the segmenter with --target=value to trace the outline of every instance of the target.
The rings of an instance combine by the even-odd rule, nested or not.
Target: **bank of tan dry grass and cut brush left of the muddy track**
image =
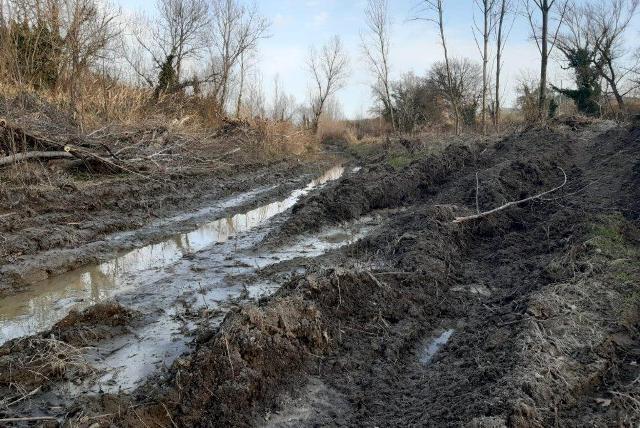
[[[150,102],[149,90],[122,84],[108,86],[99,79],[84,85],[84,96],[74,113],[64,95],[55,91],[40,93],[0,84],[0,117],[62,146],[71,143],[82,150],[87,143],[98,150],[89,149],[93,155],[110,161],[103,161],[103,168],[86,165],[88,172],[135,172],[163,181],[173,174],[236,170],[240,165],[260,165],[318,152],[316,138],[289,122],[229,120],[207,97],[174,94]],[[89,91],[91,86],[95,90]],[[82,147],[75,141],[82,141]],[[109,167],[113,162],[121,166]],[[46,168],[32,174],[36,171],[26,165],[19,165],[26,169],[23,172],[14,167],[15,177],[9,181],[17,185],[58,185]]]

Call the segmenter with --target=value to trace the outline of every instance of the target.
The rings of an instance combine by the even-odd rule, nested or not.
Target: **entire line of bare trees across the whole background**
[[[640,81],[640,56],[625,40],[639,1],[468,0],[478,54],[457,58],[447,38],[451,3],[416,0],[411,20],[436,31],[442,59],[424,74],[394,79],[391,3],[368,0],[361,51],[374,113],[392,130],[499,129],[505,46],[517,22],[529,26],[540,53],[538,76],[518,86],[521,117],[544,120],[561,99],[589,115],[625,113]],[[342,116],[337,93],[351,67],[339,36],[309,49],[301,64],[309,93],[300,102],[278,76],[262,81],[259,45],[272,28],[257,3],[156,0],[155,7],[149,18],[124,16],[102,0],[0,0],[0,89],[47,93],[80,122],[83,115],[110,120],[163,108],[205,120],[262,118],[317,130],[323,118]],[[548,81],[552,58],[573,71],[574,87]]]

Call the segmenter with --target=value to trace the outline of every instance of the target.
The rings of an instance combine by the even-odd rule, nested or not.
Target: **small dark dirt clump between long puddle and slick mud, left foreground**
[[[87,346],[127,333],[137,315],[118,303],[100,303],[82,312],[72,310],[46,335],[74,346]]]

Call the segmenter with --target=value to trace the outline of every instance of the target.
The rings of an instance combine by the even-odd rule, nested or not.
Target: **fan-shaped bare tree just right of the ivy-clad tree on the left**
[[[217,70],[214,95],[224,108],[233,69],[240,57],[255,49],[258,41],[268,36],[269,21],[258,12],[255,4],[245,7],[238,0],[212,0],[212,64]]]

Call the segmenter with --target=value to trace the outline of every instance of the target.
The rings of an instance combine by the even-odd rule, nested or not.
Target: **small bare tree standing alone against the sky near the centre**
[[[316,132],[327,100],[343,87],[349,73],[349,60],[340,37],[332,37],[319,52],[312,47],[307,67],[312,77],[311,126]]]

